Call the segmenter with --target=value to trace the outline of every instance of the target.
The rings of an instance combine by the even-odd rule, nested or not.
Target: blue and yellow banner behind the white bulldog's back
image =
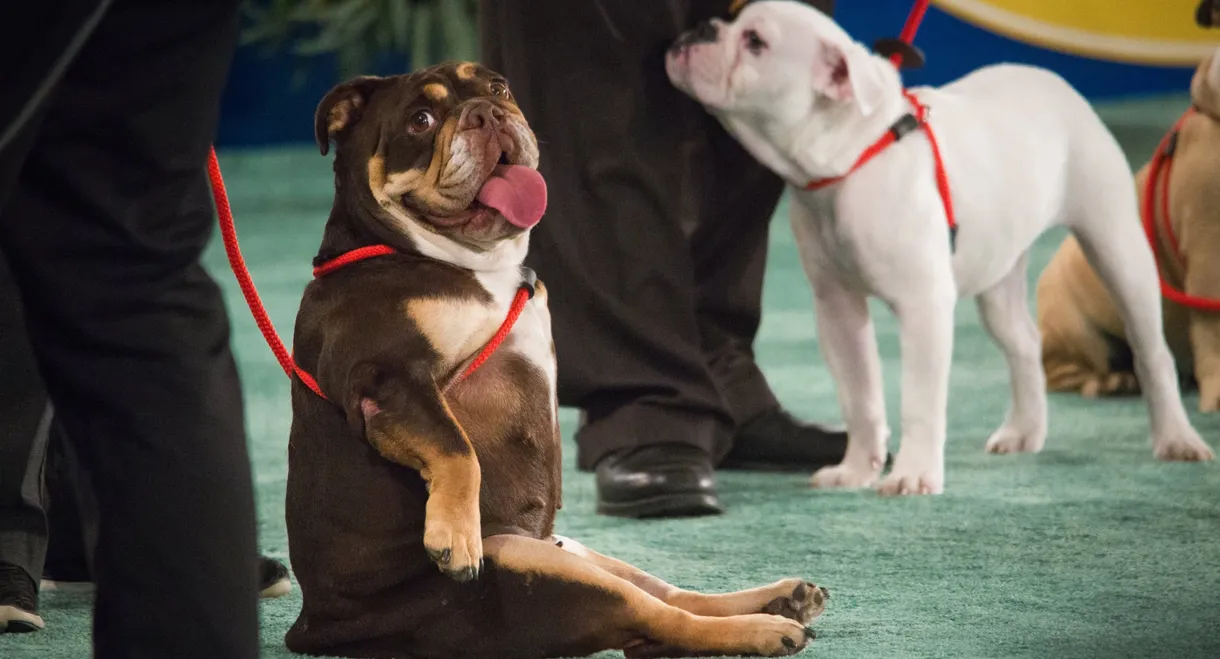
[[[914,0],[837,0],[836,20],[871,44],[902,31]],[[943,84],[996,62],[1064,76],[1086,96],[1186,93],[1220,29],[1194,21],[1199,0],[932,0],[909,84]]]

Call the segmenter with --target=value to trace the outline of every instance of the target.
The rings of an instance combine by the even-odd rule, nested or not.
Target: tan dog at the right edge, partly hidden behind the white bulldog
[[[1136,173],[1142,209],[1152,207],[1161,276],[1174,290],[1220,304],[1220,50],[1194,72],[1192,110]],[[1168,149],[1168,150],[1166,150]],[[1158,159],[1160,159],[1158,161]],[[1166,187],[1168,185],[1168,187]],[[1165,196],[1168,195],[1168,198]],[[1165,212],[1168,210],[1168,212]],[[1148,214],[1144,214],[1148,222]],[[1122,322],[1080,243],[1069,237],[1037,288],[1047,387],[1087,397],[1138,391]],[[1220,312],[1163,298],[1165,338],[1183,377],[1199,387],[1199,409],[1220,409]]]

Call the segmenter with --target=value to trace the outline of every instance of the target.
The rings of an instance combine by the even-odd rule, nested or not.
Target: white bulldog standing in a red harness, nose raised
[[[1077,237],[1118,301],[1155,456],[1213,458],[1186,415],[1161,334],[1157,271],[1131,171],[1118,142],[1063,78],[997,65],[941,88],[910,89],[926,107],[942,168],[924,127],[881,142],[892,128],[911,127],[910,117],[899,121],[904,115],[922,116],[894,66],[802,2],[752,2],[731,23],[702,24],[673,44],[666,70],[792,187],[792,228],[850,433],[843,463],[817,471],[814,486],[866,487],[881,476],[889,428],[869,295],[897,315],[903,356],[902,442],[877,484],[882,494],[944,489],[959,298],[977,298],[1011,372],[1011,403],[987,450],[1042,449],[1046,380],[1026,254],[1058,225]],[[948,199],[938,188],[942,173]],[[820,187],[806,189],[811,183]],[[950,218],[960,231],[950,232]]]

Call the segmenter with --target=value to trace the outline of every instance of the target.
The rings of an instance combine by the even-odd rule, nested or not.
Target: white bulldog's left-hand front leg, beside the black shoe
[[[838,389],[847,422],[843,461],[817,470],[813,486],[859,488],[872,484],[886,464],[886,400],[881,356],[869,300],[830,276],[810,276],[817,312],[817,340]]]

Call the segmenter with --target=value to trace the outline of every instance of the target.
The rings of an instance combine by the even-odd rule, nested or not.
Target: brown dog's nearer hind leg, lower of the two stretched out
[[[554,542],[492,536],[483,549],[483,587],[490,591],[481,602],[488,610],[473,618],[495,627],[498,638],[488,650],[505,659],[608,649],[631,658],[786,657],[813,637],[804,625],[780,615],[711,618],[669,605]],[[472,648],[465,649],[470,654]]]

